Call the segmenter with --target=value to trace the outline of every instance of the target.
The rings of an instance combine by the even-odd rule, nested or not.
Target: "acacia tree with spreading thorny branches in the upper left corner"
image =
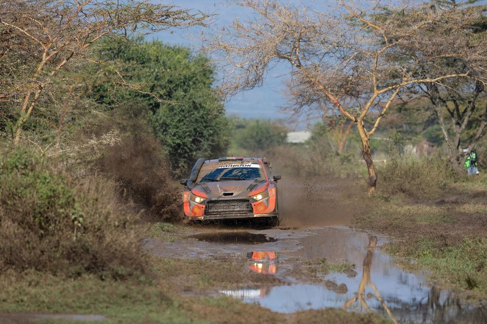
[[[19,143],[22,125],[30,117],[41,94],[58,83],[66,84],[67,97],[62,104],[77,98],[79,78],[60,71],[68,63],[81,60],[102,66],[90,48],[103,36],[136,32],[154,32],[172,27],[202,25],[207,18],[172,5],[147,0],[10,0],[0,4],[0,70],[12,72],[21,55],[28,64],[22,77],[2,75],[0,100],[18,107],[14,144]],[[14,68],[13,68],[14,67]],[[27,68],[26,68],[27,67]],[[117,75],[113,69],[114,75]],[[56,79],[57,77],[57,79]],[[89,76],[87,76],[89,77]],[[71,83],[70,83],[71,81]],[[123,83],[123,79],[120,81]],[[81,85],[90,82],[84,77]],[[86,92],[86,87],[81,87]],[[71,97],[72,96],[72,97]],[[71,99],[70,99],[71,97]]]

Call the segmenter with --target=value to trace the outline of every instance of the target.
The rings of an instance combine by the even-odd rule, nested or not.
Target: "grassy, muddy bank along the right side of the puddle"
[[[481,186],[474,183],[473,187],[477,185]],[[401,266],[429,270],[432,282],[455,290],[470,303],[485,303],[486,197],[472,202],[469,193],[444,192],[439,203],[377,195],[362,201],[368,212],[356,216],[352,223],[356,228],[393,236],[395,240],[384,249],[412,261],[399,262]]]

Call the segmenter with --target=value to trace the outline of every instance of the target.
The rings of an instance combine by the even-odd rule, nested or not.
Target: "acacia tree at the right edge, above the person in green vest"
[[[477,2],[437,1],[433,8],[441,7],[450,14],[432,24],[421,37],[402,43],[400,48],[402,54],[408,54],[418,62],[417,75],[469,75],[461,79],[425,83],[412,89],[412,92],[431,101],[448,146],[448,158],[458,173],[464,172],[461,142],[464,147],[472,149],[487,126],[487,107],[479,108],[483,106],[486,90],[487,5],[475,5]],[[472,124],[472,117],[480,117],[480,120]],[[467,131],[470,134],[467,135]]]

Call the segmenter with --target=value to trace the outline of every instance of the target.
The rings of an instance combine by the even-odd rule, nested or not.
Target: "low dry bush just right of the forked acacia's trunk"
[[[450,163],[441,158],[395,158],[377,171],[382,193],[403,193],[410,198],[438,197],[454,180]]]

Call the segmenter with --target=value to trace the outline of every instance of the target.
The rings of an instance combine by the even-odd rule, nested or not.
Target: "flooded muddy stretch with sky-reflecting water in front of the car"
[[[387,242],[384,237],[347,227],[245,232],[220,228],[189,236],[174,242],[148,239],[146,247],[172,258],[244,258],[247,271],[286,283],[216,291],[246,303],[281,313],[326,307],[372,311],[395,323],[487,323],[485,307],[463,306],[452,292],[430,285],[423,274],[395,265],[391,256],[377,249]],[[312,278],[298,275],[303,262],[325,259],[353,264],[355,269],[318,271]]]

